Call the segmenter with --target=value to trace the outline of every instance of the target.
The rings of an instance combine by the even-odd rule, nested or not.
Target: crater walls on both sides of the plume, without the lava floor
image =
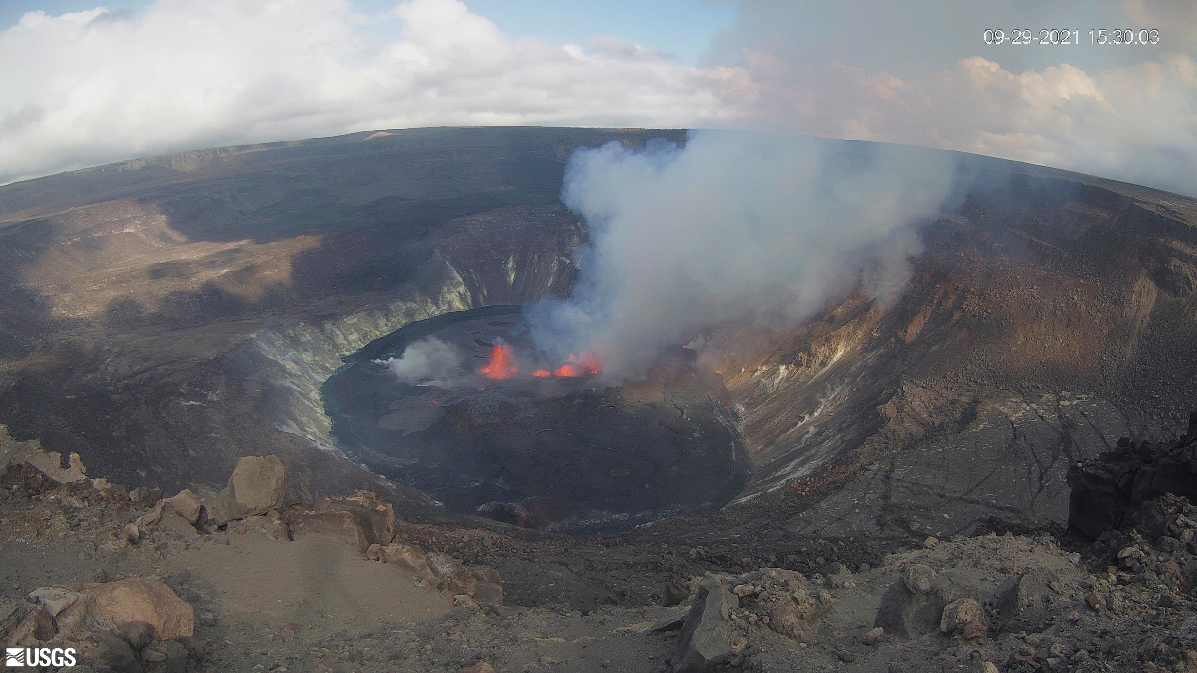
[[[662,135],[682,138],[363,133],[0,188],[0,424],[129,484],[213,484],[277,453],[299,495],[382,487],[329,436],[318,392],[341,358],[567,292],[585,238],[558,200],[569,153]],[[897,298],[707,335],[752,454],[745,496],[801,492],[773,507],[792,530],[1063,525],[1071,462],[1159,436],[1197,394],[1191,200],[960,162],[974,177],[928,216]]]

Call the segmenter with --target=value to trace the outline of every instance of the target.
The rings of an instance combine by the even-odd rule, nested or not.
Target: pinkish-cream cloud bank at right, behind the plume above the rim
[[[962,150],[1197,194],[1197,62],[1013,73],[980,56],[899,79],[747,51],[757,123]]]

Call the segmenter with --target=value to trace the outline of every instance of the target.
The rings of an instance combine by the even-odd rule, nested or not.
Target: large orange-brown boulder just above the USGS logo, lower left
[[[129,577],[95,584],[87,592],[96,599],[96,613],[111,620],[116,629],[140,622],[150,626],[159,641],[192,636],[194,610],[162,582]]]

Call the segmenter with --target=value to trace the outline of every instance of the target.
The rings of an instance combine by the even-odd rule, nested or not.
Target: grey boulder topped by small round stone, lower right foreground
[[[936,575],[925,565],[915,565],[882,594],[873,625],[903,638],[930,633],[940,627],[943,608],[966,598],[979,598],[977,588],[960,584],[946,574]]]

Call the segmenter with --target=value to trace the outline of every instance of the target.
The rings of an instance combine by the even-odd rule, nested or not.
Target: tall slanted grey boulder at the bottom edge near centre
[[[731,659],[734,651],[727,620],[736,602],[736,596],[722,582],[711,575],[703,577],[678,637],[675,673],[710,673]]]

